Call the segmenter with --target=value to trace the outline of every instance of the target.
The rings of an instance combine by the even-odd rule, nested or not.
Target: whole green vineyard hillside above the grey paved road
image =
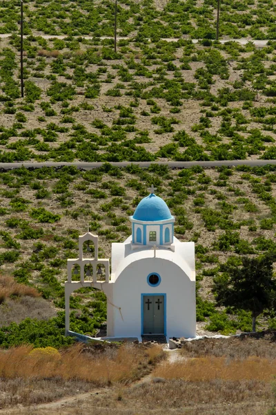
[[[221,5],[221,35],[271,39],[257,48],[213,42],[215,3],[119,2],[115,53],[113,3],[29,1],[21,99],[19,9],[2,2],[0,162],[275,158],[276,6]]]

